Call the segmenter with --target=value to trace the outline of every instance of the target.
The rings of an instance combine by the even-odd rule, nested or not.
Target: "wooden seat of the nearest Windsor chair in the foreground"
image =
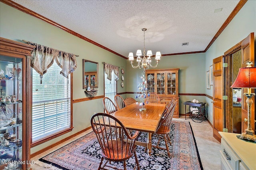
[[[120,149],[121,148],[120,146],[123,146],[123,149]],[[110,149],[110,152],[108,149]],[[126,160],[132,156],[132,154],[129,154],[129,149],[130,149],[130,143],[128,143],[126,146],[126,142],[123,142],[122,144],[121,141],[109,140],[108,144],[106,143],[106,149],[102,150],[102,156],[109,160],[113,160],[113,159],[116,161]],[[136,147],[134,148],[134,150],[136,150]]]

